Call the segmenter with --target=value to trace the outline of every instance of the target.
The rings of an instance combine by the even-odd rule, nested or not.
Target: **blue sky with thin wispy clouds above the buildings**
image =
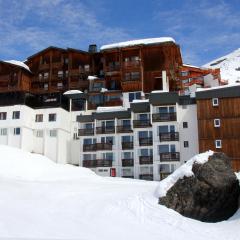
[[[240,48],[239,0],[0,0],[0,59],[48,47],[173,37],[185,63]]]

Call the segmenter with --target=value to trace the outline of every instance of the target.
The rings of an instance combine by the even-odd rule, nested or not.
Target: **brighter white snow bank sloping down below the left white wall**
[[[67,180],[95,176],[82,167],[56,164],[47,157],[0,145],[0,177],[22,180]]]

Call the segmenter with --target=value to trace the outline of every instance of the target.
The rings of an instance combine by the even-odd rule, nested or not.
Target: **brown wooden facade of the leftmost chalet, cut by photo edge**
[[[0,92],[28,92],[31,78],[31,73],[23,67],[0,61]]]

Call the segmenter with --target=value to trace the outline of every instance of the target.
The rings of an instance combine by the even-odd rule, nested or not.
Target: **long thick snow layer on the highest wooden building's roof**
[[[112,48],[131,47],[131,46],[136,46],[136,45],[159,44],[159,43],[164,43],[164,42],[175,43],[175,40],[171,37],[145,38],[145,39],[138,39],[138,40],[103,45],[103,46],[101,46],[100,50],[103,51],[103,50],[112,49]]]

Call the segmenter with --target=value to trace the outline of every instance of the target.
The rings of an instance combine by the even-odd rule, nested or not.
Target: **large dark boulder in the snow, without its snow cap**
[[[159,204],[203,222],[227,220],[238,209],[240,187],[230,159],[214,153],[204,164],[194,163],[194,176],[179,179]]]

